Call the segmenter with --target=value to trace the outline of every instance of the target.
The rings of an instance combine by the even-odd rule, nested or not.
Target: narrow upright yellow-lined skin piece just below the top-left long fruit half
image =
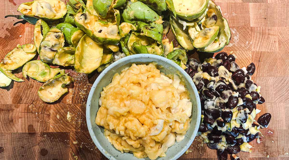
[[[43,21],[42,19],[39,19],[34,27],[34,44],[37,48],[37,52],[39,53],[39,46],[42,42],[43,36],[50,30],[49,25]]]

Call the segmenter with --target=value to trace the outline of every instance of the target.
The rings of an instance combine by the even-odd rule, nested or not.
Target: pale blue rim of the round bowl
[[[90,117],[90,107],[91,107],[91,101],[92,101],[92,97],[93,97],[93,94],[95,92],[95,89],[97,87],[97,85],[99,84],[99,82],[101,81],[101,79],[103,78],[103,76],[105,75],[105,73],[109,70],[111,70],[112,68],[114,68],[115,66],[117,66],[118,64],[122,63],[122,62],[125,62],[127,60],[130,60],[130,59],[136,59],[136,58],[141,58],[141,57],[148,57],[148,58],[155,58],[155,59],[160,59],[166,63],[169,63],[171,66],[177,68],[178,71],[181,72],[181,74],[190,82],[190,84],[194,84],[192,78],[188,75],[188,73],[186,73],[186,71],[184,71],[184,69],[182,69],[179,65],[177,65],[175,62],[173,61],[170,61],[169,59],[163,57],[163,56],[158,56],[158,55],[155,55],[155,54],[134,54],[134,55],[130,55],[130,56],[126,56],[124,58],[121,58],[115,62],[113,62],[111,65],[109,65],[107,68],[105,68],[100,74],[99,76],[97,77],[97,79],[95,80],[95,82],[93,83],[90,91],[89,91],[89,95],[88,95],[88,98],[87,98],[87,102],[86,102],[86,124],[87,124],[87,128],[88,128],[88,131],[89,131],[89,134],[90,134],[90,137],[92,138],[92,141],[94,142],[94,144],[97,146],[97,148],[100,150],[100,152],[105,156],[107,157],[108,159],[110,160],[118,160],[116,158],[114,158],[113,156],[111,156],[109,154],[108,151],[106,151],[102,145],[99,143],[99,141],[97,140],[96,136],[95,136],[95,133],[93,131],[93,128],[92,128],[92,124],[91,124],[91,117]],[[136,61],[138,62],[138,61]],[[153,62],[153,61],[152,61]],[[145,62],[144,62],[145,63]],[[177,152],[170,160],[176,160],[178,159],[179,157],[181,157],[181,155],[184,154],[184,152],[186,152],[186,150],[190,147],[190,145],[192,144],[192,142],[194,141],[195,137],[197,136],[197,132],[198,132],[198,129],[200,125],[200,121],[201,121],[201,102],[199,101],[199,93],[197,91],[197,88],[195,85],[192,85],[192,89],[194,91],[194,95],[196,96],[196,104],[197,104],[197,120],[196,120],[196,128],[194,128],[194,131],[192,133],[192,136],[190,136],[190,140],[186,143],[186,145],[179,151]],[[191,128],[190,128],[191,129]],[[194,137],[192,139],[192,137]],[[120,152],[120,154],[122,154]]]

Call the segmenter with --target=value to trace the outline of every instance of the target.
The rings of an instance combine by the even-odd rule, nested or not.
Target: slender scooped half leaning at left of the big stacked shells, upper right
[[[184,30],[183,25],[178,23],[172,16],[170,17],[170,24],[171,24],[171,30],[173,34],[175,35],[175,38],[177,39],[179,44],[184,49],[193,50],[194,46],[192,44],[190,37],[188,36],[187,28]]]

